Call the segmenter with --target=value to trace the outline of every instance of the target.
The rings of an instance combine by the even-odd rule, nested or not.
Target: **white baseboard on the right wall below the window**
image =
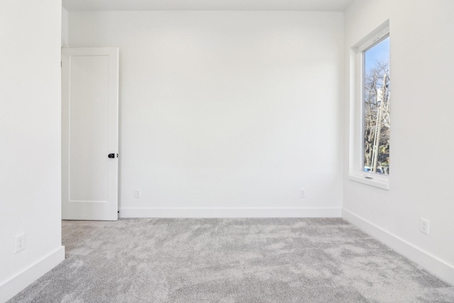
[[[436,258],[436,256],[421,250],[421,248],[417,248],[413,244],[385,231],[383,228],[361,218],[347,209],[342,209],[342,218],[351,224],[358,226],[362,231],[384,243],[389,248],[392,248],[397,253],[400,253],[405,258],[421,265],[422,268],[431,272],[433,275],[454,285],[454,267],[452,265],[445,263],[443,260]]]

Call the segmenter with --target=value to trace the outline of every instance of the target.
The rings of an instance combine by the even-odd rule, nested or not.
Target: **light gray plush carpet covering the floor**
[[[342,219],[63,221],[66,260],[9,302],[454,302]]]

